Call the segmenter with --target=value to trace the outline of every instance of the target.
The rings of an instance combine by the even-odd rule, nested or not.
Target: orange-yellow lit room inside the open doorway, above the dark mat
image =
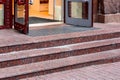
[[[29,4],[29,17],[53,19],[52,2],[49,2],[49,0],[32,0]]]

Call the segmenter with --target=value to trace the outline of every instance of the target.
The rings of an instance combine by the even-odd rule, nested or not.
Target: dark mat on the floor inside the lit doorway
[[[22,23],[23,18],[18,18],[17,21]],[[48,22],[59,22],[59,21],[58,20],[52,20],[52,19],[39,18],[39,17],[29,17],[29,24],[48,23]]]

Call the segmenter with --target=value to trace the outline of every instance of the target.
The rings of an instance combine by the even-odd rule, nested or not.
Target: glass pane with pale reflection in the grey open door
[[[88,4],[87,2],[71,2],[68,3],[69,6],[69,17],[88,19]]]

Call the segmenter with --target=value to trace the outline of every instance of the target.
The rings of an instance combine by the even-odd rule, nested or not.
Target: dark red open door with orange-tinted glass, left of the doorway
[[[14,0],[14,28],[21,33],[29,31],[28,0]]]

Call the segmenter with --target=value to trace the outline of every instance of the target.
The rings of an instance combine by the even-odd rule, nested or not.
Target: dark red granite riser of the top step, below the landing
[[[110,38],[117,38],[117,37],[120,37],[120,32],[86,36],[86,37],[69,38],[69,39],[62,39],[62,40],[53,40],[53,41],[46,41],[46,42],[38,42],[38,43],[5,46],[5,47],[0,47],[0,53],[7,53],[7,52],[12,52],[12,51],[20,51],[20,50],[29,50],[29,49],[35,49],[35,48],[62,46],[62,45],[67,45],[67,44],[88,42],[88,41],[94,41],[94,40],[103,40],[103,39],[110,39]]]

